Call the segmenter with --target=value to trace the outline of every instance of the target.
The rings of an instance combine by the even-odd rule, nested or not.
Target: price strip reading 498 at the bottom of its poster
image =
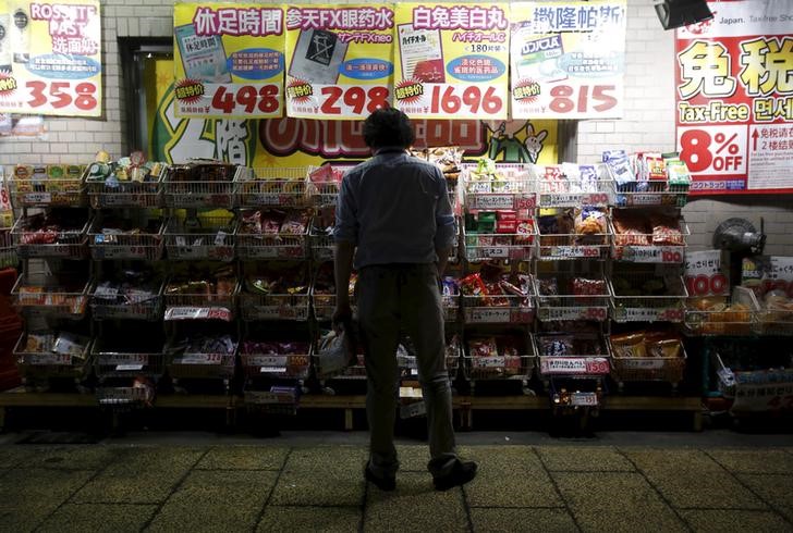
[[[176,116],[265,119],[282,114],[279,85],[210,84],[181,80],[174,86]]]

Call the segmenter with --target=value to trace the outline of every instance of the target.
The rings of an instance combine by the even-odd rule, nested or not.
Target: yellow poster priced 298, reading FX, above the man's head
[[[286,8],[286,114],[350,120],[389,106],[393,18],[390,5]]]

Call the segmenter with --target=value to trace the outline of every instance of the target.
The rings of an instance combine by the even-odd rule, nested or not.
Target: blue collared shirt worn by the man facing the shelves
[[[443,173],[400,148],[378,150],[344,175],[333,237],[357,247],[355,269],[437,261],[455,238]]]

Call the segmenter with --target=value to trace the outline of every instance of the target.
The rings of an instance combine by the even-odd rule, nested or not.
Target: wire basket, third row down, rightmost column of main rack
[[[622,288],[614,286],[614,280],[608,280],[611,293],[611,317],[617,322],[683,322],[685,302],[688,293],[681,276],[657,276],[652,272],[625,273],[619,277],[627,280],[631,287],[645,287],[649,282],[660,281],[666,294],[650,296],[635,289],[638,295],[626,295]]]

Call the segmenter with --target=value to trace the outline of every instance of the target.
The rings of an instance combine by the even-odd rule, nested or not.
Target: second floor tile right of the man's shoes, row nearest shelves
[[[542,463],[551,471],[615,472],[636,469],[615,448],[606,446],[538,446]]]

